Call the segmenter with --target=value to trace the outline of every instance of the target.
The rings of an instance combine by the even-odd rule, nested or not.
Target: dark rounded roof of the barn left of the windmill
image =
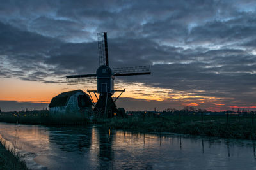
[[[86,94],[82,90],[73,90],[73,91],[69,91],[69,92],[63,92],[63,93],[59,94],[58,96],[53,97],[52,100],[51,100],[51,103],[49,104],[49,108],[59,107],[59,106],[66,106],[70,96],[72,96],[73,94],[76,94],[77,92],[83,93],[91,101],[88,94]]]

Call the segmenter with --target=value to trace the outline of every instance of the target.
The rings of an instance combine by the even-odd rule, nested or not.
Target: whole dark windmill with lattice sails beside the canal
[[[114,89],[114,80],[118,76],[137,76],[151,74],[150,66],[136,66],[136,67],[120,67],[111,69],[109,67],[108,61],[108,41],[107,32],[100,32],[98,36],[98,50],[99,50],[99,68],[96,74],[83,74],[83,75],[73,75],[66,76],[67,84],[77,84],[77,83],[91,83],[97,78],[97,90],[87,90],[90,92],[99,93],[99,99],[97,98],[97,103],[94,104],[93,111],[104,117],[113,117],[114,114],[118,113],[122,117],[125,115],[124,108],[117,108],[115,101],[122,95],[124,90]],[[112,96],[115,92],[121,92],[115,101]],[[92,96],[90,94],[92,99]],[[93,99],[92,99],[93,101]],[[94,101],[93,101],[94,103]]]

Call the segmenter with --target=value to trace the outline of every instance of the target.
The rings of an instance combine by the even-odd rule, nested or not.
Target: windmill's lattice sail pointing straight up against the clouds
[[[108,41],[107,32],[100,32],[98,35],[98,50],[100,66],[108,66]]]

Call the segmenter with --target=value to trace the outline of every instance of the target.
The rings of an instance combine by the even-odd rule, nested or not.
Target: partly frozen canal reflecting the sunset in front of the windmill
[[[256,169],[248,140],[6,123],[0,138],[30,169]]]

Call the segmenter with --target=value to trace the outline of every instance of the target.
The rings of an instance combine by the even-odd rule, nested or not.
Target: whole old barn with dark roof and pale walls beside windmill
[[[51,113],[92,112],[92,100],[82,90],[63,92],[52,98],[49,104]]]

